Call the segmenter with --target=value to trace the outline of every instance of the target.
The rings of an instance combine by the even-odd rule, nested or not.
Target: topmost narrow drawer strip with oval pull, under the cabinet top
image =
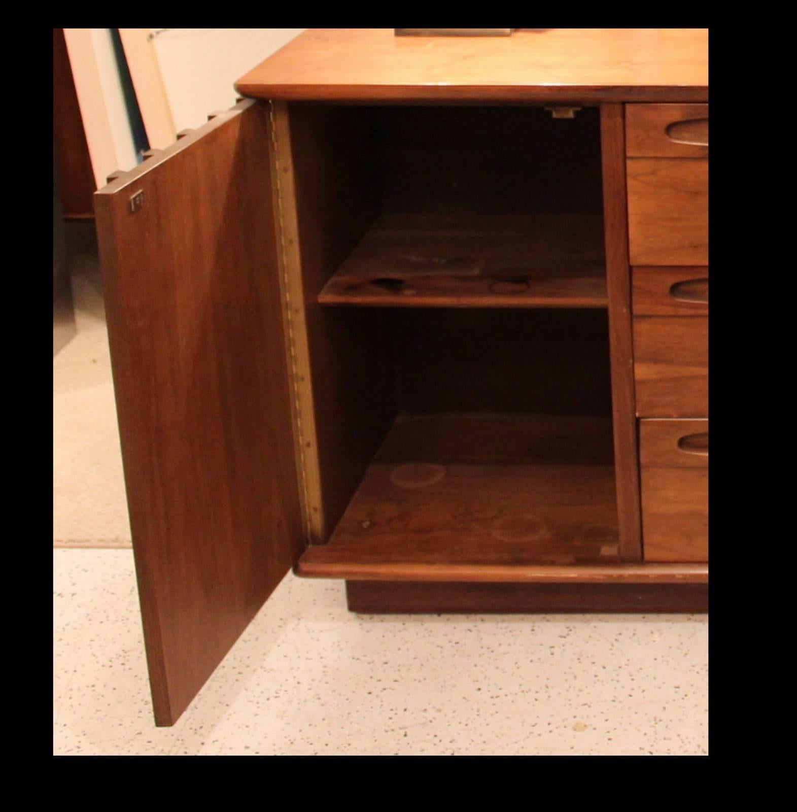
[[[629,158],[708,158],[707,104],[626,105]]]

